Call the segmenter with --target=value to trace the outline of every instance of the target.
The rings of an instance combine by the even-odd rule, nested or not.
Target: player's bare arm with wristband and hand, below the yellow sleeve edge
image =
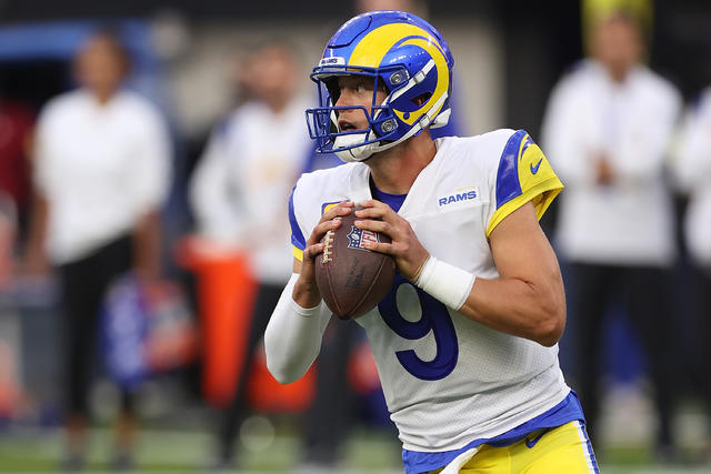
[[[363,220],[356,225],[391,238],[391,243],[368,243],[367,248],[392,255],[402,276],[497,331],[547,346],[558,342],[565,324],[563,283],[531,202],[509,213],[490,234],[500,275],[494,280],[477,278],[430,255],[409,222],[387,204],[365,201],[361,205],[365,209],[356,215]]]

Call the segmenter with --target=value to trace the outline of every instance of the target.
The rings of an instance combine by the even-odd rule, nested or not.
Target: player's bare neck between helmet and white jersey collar
[[[435,153],[434,141],[429,130],[424,130],[418,137],[378,153],[365,163],[370,167],[370,174],[380,191],[405,194]]]

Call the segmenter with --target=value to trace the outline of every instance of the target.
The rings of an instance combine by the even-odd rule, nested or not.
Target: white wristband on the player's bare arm
[[[447,306],[459,310],[467,301],[474,280],[473,274],[430,255],[414,284]]]

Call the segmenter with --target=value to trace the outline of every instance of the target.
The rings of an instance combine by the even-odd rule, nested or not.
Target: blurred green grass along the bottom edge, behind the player
[[[108,472],[110,433],[93,430],[86,472]],[[59,430],[7,428],[0,431],[0,472],[57,472],[62,453]],[[137,450],[138,473],[202,473],[212,447],[208,432],[174,430],[141,431]],[[270,433],[242,438],[236,473],[308,473],[299,466],[300,441],[290,433]],[[358,431],[346,446],[343,464],[334,473],[402,473],[398,443],[389,434]],[[600,460],[601,472],[609,474],[711,473],[711,465],[653,465],[650,453],[639,447],[608,448]],[[312,471],[311,471],[312,472]]]

